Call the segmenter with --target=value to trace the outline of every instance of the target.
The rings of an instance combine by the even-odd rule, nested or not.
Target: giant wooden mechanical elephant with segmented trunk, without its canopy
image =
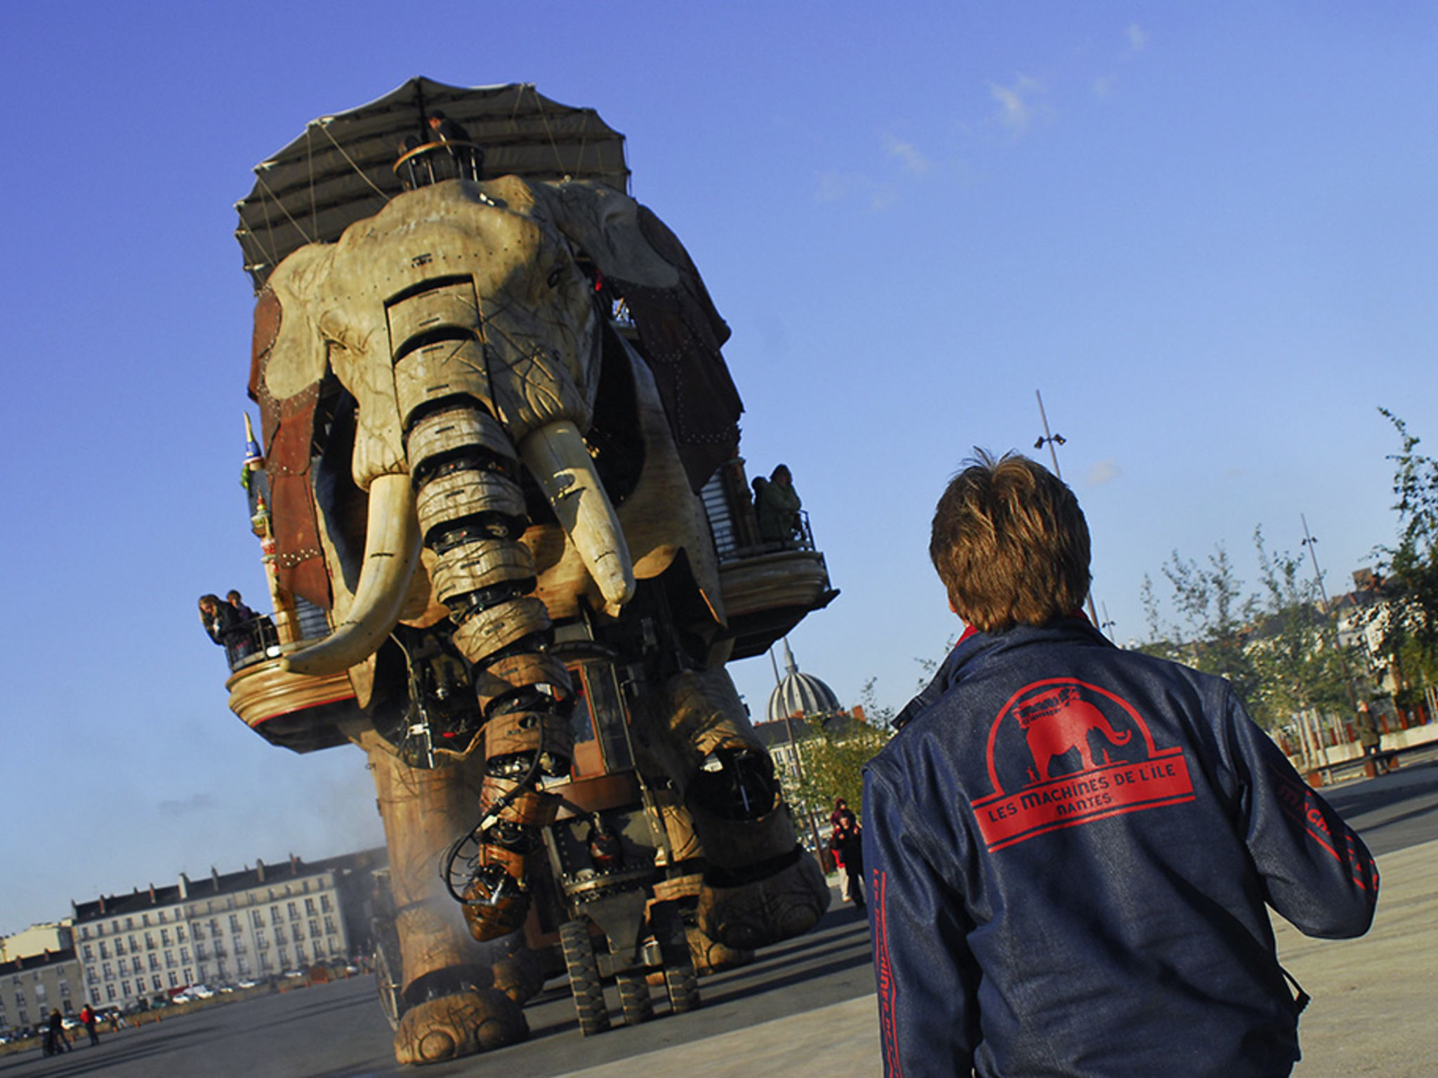
[[[230,678],[232,706],[368,752],[400,1061],[523,1035],[526,918],[531,941],[558,929],[571,980],[615,976],[628,1021],[649,969],[687,966],[686,918],[732,949],[810,929],[828,891],[723,670],[695,492],[738,438],[706,404],[739,405],[673,234],[601,184],[450,180],[296,250],[255,325],[290,642]],[[607,1022],[575,998],[585,1032]]]

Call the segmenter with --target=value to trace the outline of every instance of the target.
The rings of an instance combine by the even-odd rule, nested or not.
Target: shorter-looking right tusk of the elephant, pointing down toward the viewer
[[[580,428],[568,420],[541,427],[519,443],[519,456],[600,585],[605,609],[617,614],[634,598],[634,562]]]

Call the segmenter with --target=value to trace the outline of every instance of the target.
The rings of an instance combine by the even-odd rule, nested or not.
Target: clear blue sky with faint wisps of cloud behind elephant
[[[791,644],[900,706],[958,628],[928,519],[1041,390],[1120,640],[1175,548],[1393,535],[1386,405],[1438,438],[1438,13],[1336,3],[7,4],[0,931],[381,841],[357,750],[226,709],[194,601],[263,578],[236,484],[250,167],[413,75],[628,137],[725,318],[751,474],[843,595]],[[762,711],[766,660],[735,680]]]

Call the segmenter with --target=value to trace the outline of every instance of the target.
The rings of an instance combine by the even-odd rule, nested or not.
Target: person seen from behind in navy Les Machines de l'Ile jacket
[[[979,453],[929,553],[966,630],[864,769],[886,1074],[1287,1075],[1307,998],[1265,901],[1362,936],[1363,842],[1225,680],[1083,618],[1089,528],[1041,466]]]

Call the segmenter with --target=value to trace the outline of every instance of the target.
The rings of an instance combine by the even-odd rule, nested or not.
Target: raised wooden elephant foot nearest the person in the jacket
[[[818,862],[795,847],[777,871],[759,878],[738,881],[720,872],[706,878],[699,893],[699,929],[726,947],[752,950],[808,931],[828,903]]]

